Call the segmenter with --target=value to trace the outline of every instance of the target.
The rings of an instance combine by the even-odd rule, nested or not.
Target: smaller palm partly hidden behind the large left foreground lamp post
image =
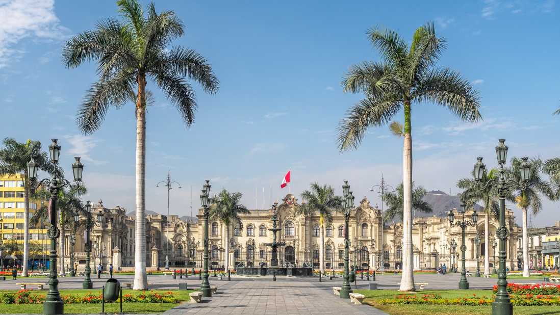
[[[84,186],[71,185],[68,189],[60,189],[58,192],[57,199],[57,210],[60,225],[60,236],[58,239],[59,245],[59,268],[60,275],[66,275],[66,268],[64,268],[64,239],[66,237],[66,229],[70,227],[75,227],[76,224],[73,220],[74,213],[78,210],[83,210],[83,201],[80,196],[86,194],[87,190]],[[50,192],[41,189],[35,192],[35,199],[46,200],[49,198]],[[48,222],[49,209],[48,206],[41,206],[34,215],[31,217],[30,223],[37,225],[41,222],[41,219]]]

